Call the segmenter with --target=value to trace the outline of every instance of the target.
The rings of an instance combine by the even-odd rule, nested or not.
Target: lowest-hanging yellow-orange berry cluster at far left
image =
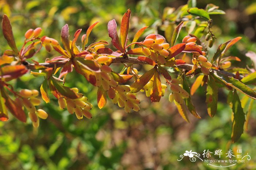
[[[41,103],[41,100],[36,98],[39,92],[37,90],[22,89],[18,94],[20,98],[16,98],[16,100],[19,100],[17,103],[26,107],[29,111],[29,118],[32,121],[33,126],[37,128],[39,126],[38,117],[41,119],[46,119],[48,117],[48,114],[44,110],[36,110],[35,108],[35,106],[38,106]]]

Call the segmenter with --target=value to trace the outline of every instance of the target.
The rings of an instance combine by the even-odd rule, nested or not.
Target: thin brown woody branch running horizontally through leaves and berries
[[[45,67],[63,67],[65,64],[67,63],[67,61],[58,61],[58,62],[51,62],[51,63],[39,63],[39,65],[41,66],[45,66]],[[138,60],[136,57],[128,57],[128,58],[124,58],[124,57],[112,57],[112,63],[130,63],[130,64],[148,64],[146,61],[140,61]],[[23,63],[27,69],[35,69],[35,64],[31,64],[31,63]],[[186,71],[189,71],[192,69],[193,65],[192,64],[183,64],[183,65],[177,65],[177,67],[179,69],[185,69]],[[229,77],[234,77],[236,75],[234,75],[233,73],[224,71],[224,70],[217,70],[217,69],[212,69],[216,72],[220,72],[223,75],[229,76]],[[240,79],[242,79],[242,76],[240,76]]]

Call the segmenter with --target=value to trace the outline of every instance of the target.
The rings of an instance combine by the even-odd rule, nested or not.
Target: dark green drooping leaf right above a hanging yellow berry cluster
[[[61,95],[68,97],[70,99],[77,99],[79,97],[74,90],[63,86],[63,84],[61,82],[55,80],[52,77],[50,78],[50,80],[52,81],[52,84],[54,85],[54,87],[58,90],[58,92]]]

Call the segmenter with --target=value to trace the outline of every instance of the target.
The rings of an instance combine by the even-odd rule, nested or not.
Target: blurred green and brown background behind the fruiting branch
[[[111,42],[107,23],[116,19],[120,25],[124,12],[131,8],[132,18],[129,37],[143,26],[150,26],[146,33],[153,33],[161,26],[161,15],[165,7],[178,8],[185,0],[1,0],[0,15],[10,17],[16,44],[20,47],[26,30],[43,28],[43,35],[60,40],[61,27],[67,23],[71,35],[82,28],[83,33],[90,24],[100,21],[92,31],[89,42],[104,39]],[[242,36],[230,55],[248,61],[245,53],[256,52],[256,1],[252,0],[198,0],[197,7],[208,3],[218,5],[226,15],[212,16],[213,31],[217,44]],[[0,34],[0,53],[9,49]],[[56,53],[41,50],[34,60],[43,62]],[[116,65],[116,70],[121,67]],[[175,75],[173,75],[175,77]],[[195,78],[192,79],[192,81]],[[14,87],[39,89],[42,78],[27,74],[12,82]],[[191,81],[191,82],[192,82]],[[93,103],[93,118],[77,120],[66,110],[62,111],[53,97],[52,102],[40,107],[49,117],[40,120],[38,129],[31,121],[23,124],[10,115],[8,122],[0,122],[0,169],[2,170],[212,170],[218,169],[200,161],[180,159],[186,150],[203,153],[204,150],[222,149],[223,157],[229,149],[235,153],[242,149],[251,160],[221,170],[256,169],[256,107],[252,109],[249,129],[241,139],[231,144],[231,109],[226,104],[227,92],[219,91],[217,115],[210,118],[205,104],[205,88],[200,87],[192,99],[202,117],[197,120],[189,115],[187,123],[165,95],[159,103],[150,103],[144,94],[140,112],[125,113],[109,101],[102,110],[97,107],[96,89],[83,76],[73,72],[67,76],[66,86],[78,87]],[[166,94],[168,94],[166,92]],[[242,95],[240,96],[242,98]],[[213,155],[212,155],[213,156]],[[223,158],[223,159],[224,159]]]

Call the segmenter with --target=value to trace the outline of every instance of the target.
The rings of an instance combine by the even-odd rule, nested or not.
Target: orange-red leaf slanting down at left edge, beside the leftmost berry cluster
[[[1,94],[2,97],[5,99],[5,106],[8,108],[8,110],[12,113],[13,116],[15,116],[18,120],[25,122],[26,114],[24,110],[22,109],[22,104],[20,101],[16,100],[13,101],[5,92],[4,88],[1,88]]]

